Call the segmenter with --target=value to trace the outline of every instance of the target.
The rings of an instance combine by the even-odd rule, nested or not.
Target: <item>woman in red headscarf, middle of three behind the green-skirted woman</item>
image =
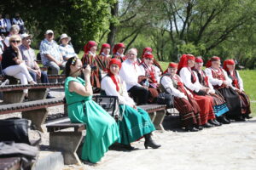
[[[102,62],[102,65],[100,65],[102,71],[107,72],[108,71],[108,64],[109,60],[111,59],[110,53],[110,45],[108,43],[103,43],[102,48],[99,54],[99,59]]]

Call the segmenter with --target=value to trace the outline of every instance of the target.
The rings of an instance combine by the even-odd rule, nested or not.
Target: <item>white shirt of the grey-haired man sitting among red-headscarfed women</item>
[[[126,59],[122,63],[119,76],[125,81],[127,90],[133,86],[142,86],[137,81],[139,76],[143,76],[143,73],[141,72],[139,65],[133,65],[133,61],[130,59]]]

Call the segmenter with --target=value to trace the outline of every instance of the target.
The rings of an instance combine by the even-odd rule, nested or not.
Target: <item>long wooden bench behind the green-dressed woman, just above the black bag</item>
[[[21,112],[23,118],[32,121],[38,130],[44,132],[42,125],[45,122],[46,116],[48,115],[49,107],[55,105],[63,105],[63,98],[55,99],[40,99],[24,103],[15,103],[9,105],[0,105],[0,114],[9,114],[14,112]]]

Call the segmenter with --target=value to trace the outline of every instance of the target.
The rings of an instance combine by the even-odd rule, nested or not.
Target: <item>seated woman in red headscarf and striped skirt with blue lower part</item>
[[[200,57],[197,57],[195,59],[195,67],[193,69],[196,73],[195,74],[196,83],[198,83],[199,87],[210,88],[207,95],[210,95],[213,98],[213,110],[214,110],[215,116],[222,116],[224,113],[229,111],[229,108],[225,104],[226,102],[222,94],[220,94],[218,91],[215,91],[214,88],[212,87],[212,84],[211,82],[209,82],[206,72],[201,70],[202,65],[203,65],[203,60]],[[221,125],[216,119],[210,120],[209,122],[216,126]],[[224,123],[229,123],[229,122],[224,122]]]

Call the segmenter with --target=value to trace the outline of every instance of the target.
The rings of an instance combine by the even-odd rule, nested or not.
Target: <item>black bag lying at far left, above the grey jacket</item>
[[[29,141],[28,128],[30,122],[27,119],[12,117],[0,120],[0,142],[1,141],[14,141],[15,143],[25,143],[37,145],[41,141],[41,134],[39,139],[33,142]],[[37,131],[38,132],[38,131]]]

